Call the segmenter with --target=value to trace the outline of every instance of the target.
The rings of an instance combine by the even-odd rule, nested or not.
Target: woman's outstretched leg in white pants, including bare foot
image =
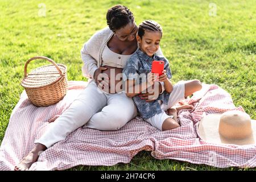
[[[46,133],[35,141],[35,147],[28,155],[15,166],[15,170],[26,170],[36,162],[40,152],[51,147],[56,142],[64,140],[77,128],[85,125],[93,114],[100,111],[107,104],[105,94],[98,91],[94,82],[91,82],[67,110],[51,123]]]

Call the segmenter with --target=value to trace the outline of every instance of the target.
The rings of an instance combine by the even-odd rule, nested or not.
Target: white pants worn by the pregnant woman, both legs
[[[84,125],[97,130],[118,130],[136,115],[136,106],[125,93],[104,93],[92,81],[35,143],[51,147]]]

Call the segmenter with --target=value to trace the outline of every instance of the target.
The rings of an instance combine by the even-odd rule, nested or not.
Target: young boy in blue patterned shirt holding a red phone
[[[184,100],[185,83],[178,82],[172,85],[171,70],[168,60],[163,56],[156,56],[155,52],[159,49],[159,43],[162,38],[161,26],[153,20],[143,21],[138,28],[137,41],[139,49],[127,61],[126,67],[123,69],[123,80],[126,85],[127,97],[133,97],[137,110],[142,118],[151,123],[159,130],[171,130],[179,127],[176,113],[180,109],[193,109],[193,106],[184,105],[171,109],[177,102]],[[154,60],[164,61],[163,74],[158,75],[151,73],[151,65]],[[143,80],[143,76],[147,75],[147,79]],[[139,97],[139,93],[152,88],[156,83],[164,84],[164,92],[151,102],[147,102]],[[201,83],[200,83],[201,84]],[[201,87],[194,88],[193,91],[200,90]],[[165,110],[168,111],[167,115]]]

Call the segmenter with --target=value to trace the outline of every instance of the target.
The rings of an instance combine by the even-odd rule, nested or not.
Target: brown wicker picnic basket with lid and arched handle
[[[28,63],[35,59],[48,60],[52,64],[36,68],[27,74]],[[27,60],[21,85],[32,104],[40,107],[59,102],[67,93],[67,81],[67,67],[64,64],[56,64],[48,57],[36,56]]]

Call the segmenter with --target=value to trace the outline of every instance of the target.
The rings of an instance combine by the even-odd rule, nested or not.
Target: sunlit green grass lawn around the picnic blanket
[[[161,47],[173,82],[197,78],[227,90],[236,106],[256,119],[255,1],[15,1],[0,0],[0,141],[22,93],[24,63],[36,55],[68,66],[69,80],[84,80],[80,49],[101,28],[116,4],[133,11],[137,24],[154,19],[163,27]],[[46,5],[46,16],[43,6]],[[28,71],[48,64],[32,61]],[[79,166],[72,170],[221,170],[142,151],[128,164]],[[227,168],[238,170],[239,168]],[[225,169],[225,170],[227,170]],[[255,170],[255,169],[254,169]]]

